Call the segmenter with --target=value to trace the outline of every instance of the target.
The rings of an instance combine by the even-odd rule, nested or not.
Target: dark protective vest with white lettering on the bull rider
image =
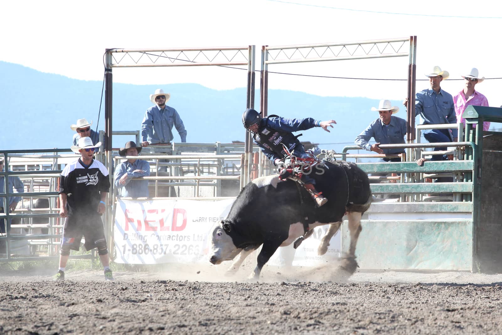
[[[290,152],[293,151],[295,148],[301,146],[297,138],[298,136],[290,132],[281,132],[266,126],[265,128],[261,128],[260,131],[253,136],[253,139],[259,146],[265,147],[284,158],[286,152],[284,151],[283,144]]]

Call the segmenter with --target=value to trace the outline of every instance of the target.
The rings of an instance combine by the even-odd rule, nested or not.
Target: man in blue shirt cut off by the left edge
[[[5,172],[4,170],[4,160],[0,159],[0,171]],[[9,172],[11,172],[9,170]],[[7,189],[9,190],[9,193],[14,193],[14,188],[16,189],[16,192],[18,193],[23,193],[25,191],[25,185],[19,179],[17,176],[9,176],[9,182],[5,183],[5,176],[2,175],[0,176],[0,194],[5,194]],[[16,209],[16,206],[18,205],[18,202],[21,201],[20,196],[10,196],[7,201],[5,201],[5,198],[2,197],[0,198],[0,213],[6,213],[6,212],[12,212],[14,209]],[[7,202],[7,206],[6,206]],[[0,218],[0,237],[5,237],[7,232],[11,231],[11,222],[8,222],[8,224],[5,224],[6,220],[4,218]],[[0,240],[0,253],[5,253],[6,251],[6,242],[4,239]]]

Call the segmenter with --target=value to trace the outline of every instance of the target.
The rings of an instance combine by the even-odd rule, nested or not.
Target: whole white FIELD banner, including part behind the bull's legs
[[[118,200],[115,211],[115,262],[160,264],[209,262],[213,225],[225,219],[234,199],[198,200]],[[260,209],[257,209],[260,210]],[[340,232],[330,241],[328,252],[317,255],[320,240],[328,226],[314,233],[295,251],[293,245],[279,248],[270,265],[316,266],[338,258]],[[256,254],[252,254],[256,260]],[[227,262],[228,265],[230,262]]]

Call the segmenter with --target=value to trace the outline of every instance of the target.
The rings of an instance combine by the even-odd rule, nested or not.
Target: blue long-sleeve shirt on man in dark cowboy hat
[[[145,172],[133,172],[143,170]],[[128,174],[125,184],[119,184],[120,178]],[[115,168],[113,184],[118,189],[119,196],[130,196],[133,198],[148,197],[148,180],[132,180],[136,177],[146,177],[150,175],[150,164],[142,159],[137,159],[133,164],[129,161],[122,162]]]

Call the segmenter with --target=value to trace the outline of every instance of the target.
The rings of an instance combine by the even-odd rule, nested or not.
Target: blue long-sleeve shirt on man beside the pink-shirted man
[[[453,97],[442,89],[436,93],[432,88],[428,88],[415,94],[415,117],[417,115],[420,115],[422,125],[457,123]],[[452,129],[451,133],[453,137],[458,136],[456,128]]]

